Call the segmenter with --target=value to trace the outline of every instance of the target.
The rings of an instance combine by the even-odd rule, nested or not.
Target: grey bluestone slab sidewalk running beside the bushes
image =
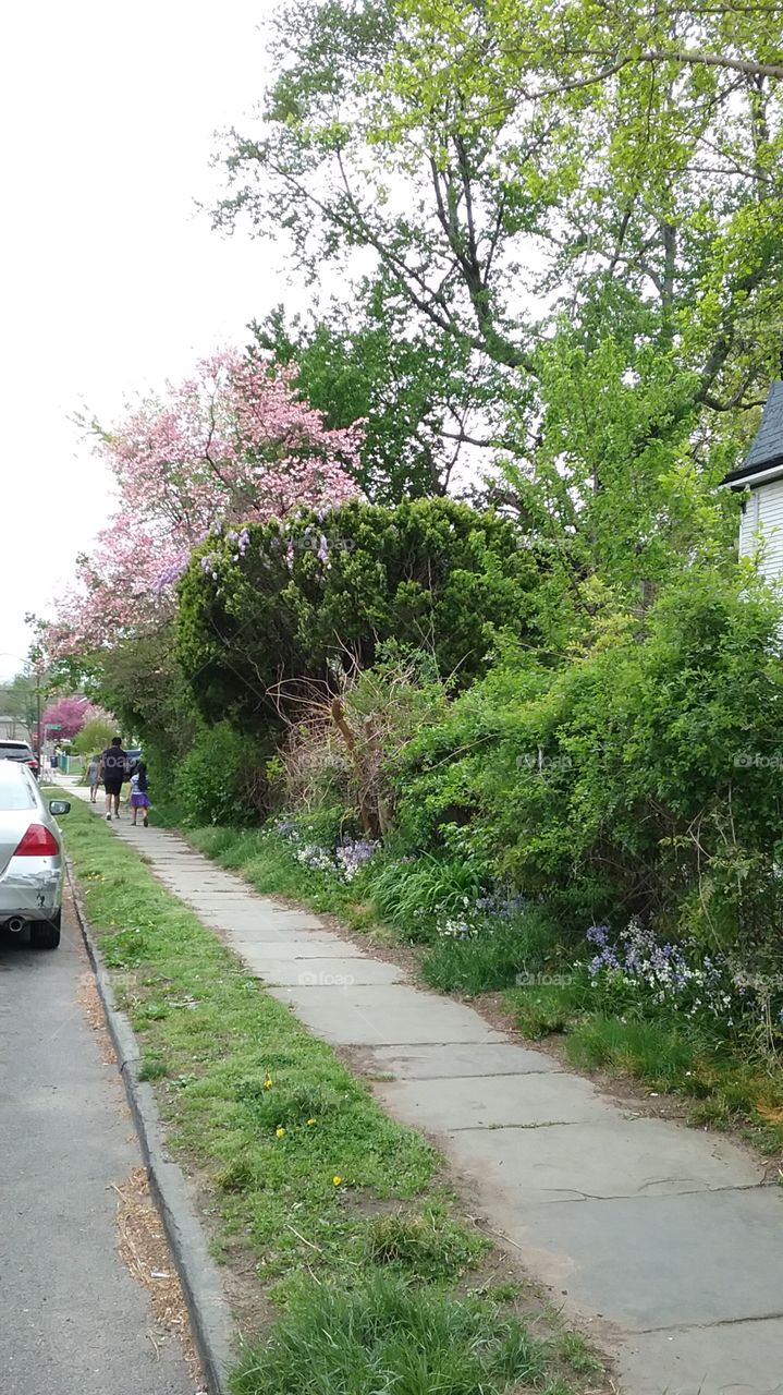
[[[376,1096],[433,1137],[627,1395],[783,1395],[783,1193],[743,1148],[613,1102],[176,833],[111,829],[311,1032],[385,1077]]]

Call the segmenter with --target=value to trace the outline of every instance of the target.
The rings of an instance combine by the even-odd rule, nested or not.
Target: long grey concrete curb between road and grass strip
[[[65,865],[77,919],[117,1052],[117,1064],[139,1137],[150,1191],[160,1211],[188,1304],[203,1375],[210,1395],[228,1395],[227,1377],[231,1366],[235,1364],[234,1327],[217,1265],[209,1254],[203,1230],[191,1207],[183,1172],[176,1162],[166,1156],[166,1143],[155,1095],[150,1085],[139,1080],[139,1049],[134,1031],[125,1014],[116,1004],[114,990],[103,967],[100,950],[91,933],[70,858],[65,859]]]

